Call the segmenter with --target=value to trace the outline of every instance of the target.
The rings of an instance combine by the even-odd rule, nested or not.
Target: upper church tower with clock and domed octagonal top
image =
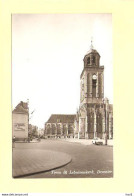
[[[100,66],[100,55],[93,49],[92,44],[83,61],[80,105],[101,103],[104,97],[104,66]]]

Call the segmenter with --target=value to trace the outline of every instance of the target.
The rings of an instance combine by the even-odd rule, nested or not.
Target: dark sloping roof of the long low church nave
[[[73,123],[76,114],[52,114],[47,123]]]

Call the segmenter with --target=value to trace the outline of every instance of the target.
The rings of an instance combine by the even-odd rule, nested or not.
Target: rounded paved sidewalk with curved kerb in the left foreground
[[[65,153],[42,149],[13,148],[13,177],[49,171],[71,162]]]

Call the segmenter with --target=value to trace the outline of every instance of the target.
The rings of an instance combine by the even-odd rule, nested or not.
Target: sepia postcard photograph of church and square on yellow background
[[[114,178],[111,13],[11,16],[12,178]]]

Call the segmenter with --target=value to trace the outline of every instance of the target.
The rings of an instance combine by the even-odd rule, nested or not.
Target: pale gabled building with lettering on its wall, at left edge
[[[28,139],[28,104],[20,102],[12,112],[12,137],[16,140]]]

